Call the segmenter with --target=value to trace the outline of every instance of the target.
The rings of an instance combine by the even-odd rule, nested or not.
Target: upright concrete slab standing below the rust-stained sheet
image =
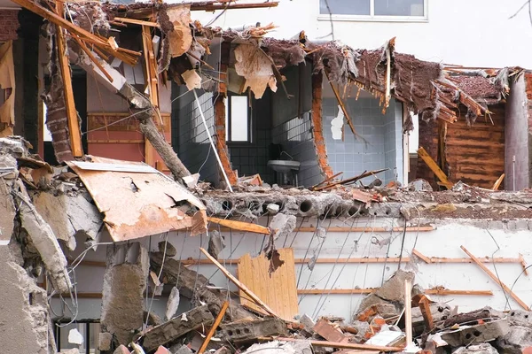
[[[119,344],[131,342],[144,323],[149,266],[148,252],[138,242],[107,246],[101,324]]]

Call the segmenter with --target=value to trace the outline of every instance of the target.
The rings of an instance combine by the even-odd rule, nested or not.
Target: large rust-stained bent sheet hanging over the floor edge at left
[[[89,190],[113,241],[133,240],[167,231],[205,232],[205,206],[187,189],[143,163],[88,156],[69,161]]]

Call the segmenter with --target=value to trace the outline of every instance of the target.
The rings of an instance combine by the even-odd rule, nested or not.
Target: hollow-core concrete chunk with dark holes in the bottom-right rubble
[[[457,330],[442,332],[442,340],[451,347],[493,341],[505,336],[510,331],[507,319],[497,319],[476,326],[462,326]]]

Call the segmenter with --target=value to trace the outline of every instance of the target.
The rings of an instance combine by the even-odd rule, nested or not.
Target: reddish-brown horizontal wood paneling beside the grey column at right
[[[456,123],[448,124],[446,157],[450,181],[491,189],[505,172],[505,104],[489,106],[489,111],[493,112],[493,125],[489,118],[479,117],[468,127],[465,112],[460,112]],[[436,122],[420,122],[419,146],[437,158],[437,144]],[[435,188],[434,173],[421,160],[417,177],[426,179]]]

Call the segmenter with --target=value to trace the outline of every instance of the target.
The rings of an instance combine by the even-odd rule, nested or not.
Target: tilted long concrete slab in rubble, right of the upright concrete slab
[[[215,321],[212,313],[208,311],[207,305],[196,307],[189,312],[185,312],[185,316],[187,320],[176,317],[146,332],[143,342],[145,350],[152,351],[160,345],[175,342],[194,329],[202,326],[210,326]]]

